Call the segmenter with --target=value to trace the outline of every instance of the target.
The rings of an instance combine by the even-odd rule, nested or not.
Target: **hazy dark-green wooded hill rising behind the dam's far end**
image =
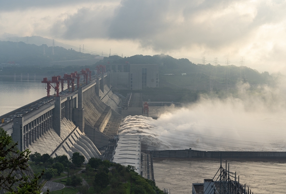
[[[189,89],[192,91],[213,91],[234,89],[239,81],[251,86],[273,85],[274,79],[268,72],[258,71],[246,66],[193,64],[188,59],[175,59],[169,55],[134,55],[121,58],[105,57],[95,65],[105,64],[159,64],[159,87]],[[183,75],[182,75],[183,74]]]

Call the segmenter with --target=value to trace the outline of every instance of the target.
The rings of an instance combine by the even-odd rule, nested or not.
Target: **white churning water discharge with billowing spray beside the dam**
[[[270,88],[257,93],[242,88],[238,95],[201,97],[167,111],[150,107],[161,112],[157,120],[127,116],[119,132],[141,134],[143,149],[286,151],[285,95]]]

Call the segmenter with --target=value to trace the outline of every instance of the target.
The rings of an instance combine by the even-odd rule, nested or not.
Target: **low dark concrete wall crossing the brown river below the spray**
[[[286,152],[271,151],[198,151],[184,150],[152,150],[154,158],[232,158],[232,159],[286,159]]]

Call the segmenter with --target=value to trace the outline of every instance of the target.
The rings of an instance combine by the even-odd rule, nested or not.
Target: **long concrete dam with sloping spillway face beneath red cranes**
[[[121,100],[112,92],[108,73],[95,75],[74,92],[43,97],[0,116],[2,127],[19,150],[51,157],[79,152],[87,162],[100,158],[110,138],[118,133]]]

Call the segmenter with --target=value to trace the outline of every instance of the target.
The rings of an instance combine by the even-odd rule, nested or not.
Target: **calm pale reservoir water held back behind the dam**
[[[41,81],[0,81],[0,115],[47,96],[45,86]]]

